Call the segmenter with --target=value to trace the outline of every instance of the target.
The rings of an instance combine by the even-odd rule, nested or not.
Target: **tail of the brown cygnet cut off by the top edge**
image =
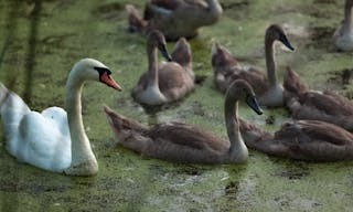
[[[128,13],[128,30],[130,32],[143,32],[145,28],[147,26],[147,21],[143,20],[140,12],[132,6],[127,4],[125,10]]]

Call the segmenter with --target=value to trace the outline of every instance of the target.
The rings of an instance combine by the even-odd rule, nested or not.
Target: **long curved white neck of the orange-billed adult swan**
[[[84,80],[79,73],[72,71],[66,83],[66,112],[72,140],[72,166],[96,162],[82,119],[81,94]]]

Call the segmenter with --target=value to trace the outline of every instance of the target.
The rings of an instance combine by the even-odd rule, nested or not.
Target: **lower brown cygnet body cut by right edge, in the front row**
[[[320,120],[285,121],[275,134],[242,120],[240,131],[249,148],[276,157],[313,162],[353,159],[353,135]]]

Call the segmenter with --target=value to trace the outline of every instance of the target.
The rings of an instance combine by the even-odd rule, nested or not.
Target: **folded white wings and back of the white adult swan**
[[[18,131],[13,132],[18,136],[8,141],[8,150],[20,161],[52,171],[69,167],[71,137],[67,116],[62,108],[51,107],[42,114],[28,113]]]

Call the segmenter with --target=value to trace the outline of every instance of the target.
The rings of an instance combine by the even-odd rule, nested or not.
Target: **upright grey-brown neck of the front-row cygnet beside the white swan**
[[[244,144],[238,124],[238,98],[229,94],[226,95],[224,104],[225,124],[231,142],[229,158],[233,161],[246,161],[248,157],[247,147]]]

